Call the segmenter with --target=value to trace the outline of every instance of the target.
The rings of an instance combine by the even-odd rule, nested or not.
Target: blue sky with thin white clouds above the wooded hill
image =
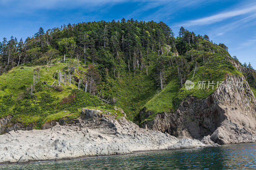
[[[63,24],[122,18],[163,21],[224,43],[231,56],[256,68],[255,0],[0,0],[0,39],[23,40]]]

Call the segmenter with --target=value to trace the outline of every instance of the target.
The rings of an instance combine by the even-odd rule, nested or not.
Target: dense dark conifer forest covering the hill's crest
[[[197,45],[197,42],[202,41],[202,36],[196,36],[184,27],[180,28],[180,37],[173,36],[172,29],[164,22],[139,22],[132,18],[127,21],[122,18],[121,22],[112,20],[112,22],[68,24],[62,29],[58,27],[49,29],[46,33],[40,27],[39,31],[34,36],[28,37],[24,43],[18,43],[15,38],[11,38],[12,41],[1,42],[0,66],[3,70],[8,65],[5,70],[9,70],[22,63],[48,64],[51,58],[58,58],[59,55],[62,59],[63,56],[73,58],[76,55],[76,63],[77,57],[83,56],[84,64],[86,65],[85,59],[89,59],[88,62],[99,68],[101,74],[107,68],[110,74],[114,69],[115,74],[118,75],[118,71],[122,74],[122,69],[136,71],[136,69],[149,68],[148,66],[154,64],[156,58],[161,55],[172,56],[166,59],[168,67],[173,68],[176,64],[176,67],[179,67],[180,78],[183,74],[182,70],[185,70],[184,67],[189,61],[180,60],[178,57],[187,55],[192,49],[198,51],[205,49]],[[228,49],[224,44],[220,46]],[[214,53],[214,50],[209,52]],[[205,57],[206,54],[203,53],[204,61]],[[196,56],[188,56],[188,58],[193,60]],[[189,72],[190,69],[187,70]],[[156,72],[159,73],[159,70]],[[162,72],[166,70],[161,71],[161,75]]]

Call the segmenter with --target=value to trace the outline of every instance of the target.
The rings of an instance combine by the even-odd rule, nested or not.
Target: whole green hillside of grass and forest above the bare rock
[[[239,70],[245,67],[224,44],[183,27],[175,38],[163,22],[68,24],[0,45],[0,118],[12,117],[10,127],[41,129],[50,121],[79,117],[83,107],[116,118],[122,116],[115,109],[120,107],[141,125],[157,113],[174,113],[189,97],[206,99],[217,89],[215,84],[186,90],[186,80],[197,84],[244,75],[252,91],[256,87],[252,69]]]

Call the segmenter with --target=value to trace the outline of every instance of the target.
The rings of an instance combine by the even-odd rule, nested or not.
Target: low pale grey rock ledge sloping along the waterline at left
[[[45,130],[10,131],[0,136],[0,163],[72,159],[133,151],[217,146],[139,128],[124,117],[84,109],[84,117]]]

